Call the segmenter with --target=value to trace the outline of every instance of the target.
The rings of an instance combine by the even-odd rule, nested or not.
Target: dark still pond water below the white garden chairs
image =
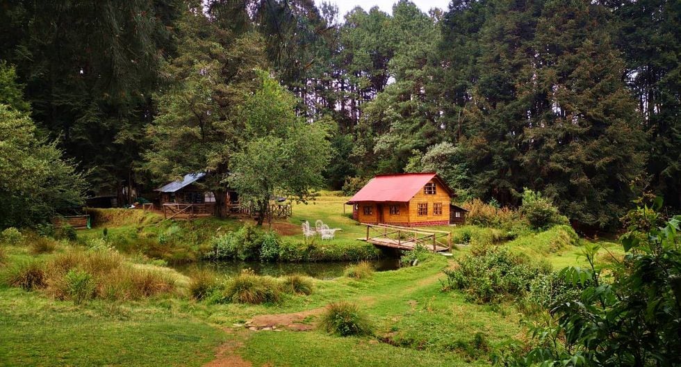
[[[395,270],[400,268],[400,259],[383,258],[369,261],[376,271]],[[250,268],[256,274],[281,277],[290,274],[302,274],[317,279],[334,279],[343,275],[347,266],[356,261],[337,261],[328,263],[261,263],[259,261],[205,261],[190,266],[179,266],[177,270],[188,274],[196,268],[207,268],[218,275],[237,275],[241,270]]]

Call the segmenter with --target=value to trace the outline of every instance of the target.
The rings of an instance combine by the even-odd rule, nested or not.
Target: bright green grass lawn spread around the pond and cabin
[[[342,229],[328,245],[356,241],[364,229],[343,215],[345,200],[347,197],[326,193],[311,204],[295,204],[293,217],[288,222],[275,223],[274,228],[284,229],[284,237],[302,240],[301,234],[293,233],[294,226],[300,228],[303,220],[313,223],[321,219],[332,228]],[[142,243],[170,225],[154,218],[136,218],[104,226],[109,236],[126,238],[121,246],[137,249],[139,244],[132,243],[135,238]],[[180,225],[202,231],[195,237],[200,242],[215,232],[236,228],[240,222],[208,219]],[[97,238],[104,226],[79,232],[79,241]],[[473,226],[438,229],[450,229],[455,236],[468,231],[474,237],[487,236],[490,231]],[[545,259],[555,269],[584,263],[578,257],[579,245],[547,252],[545,244],[552,242],[542,236],[548,235],[523,236],[501,245]],[[599,244],[614,256],[622,253],[614,243]],[[68,251],[69,246],[74,244],[60,244],[55,252]],[[192,246],[198,245],[190,243],[188,248]],[[177,291],[134,302],[91,300],[75,306],[39,291],[1,286],[0,365],[202,366],[215,358],[215,350],[226,341],[233,345],[229,353],[238,354],[253,366],[490,364],[494,354],[526,339],[521,323],[525,316],[513,303],[474,304],[457,291],[441,291],[441,279],[445,277],[442,270],[456,266],[457,259],[468,254],[470,248],[454,251],[450,257],[430,256],[415,267],[375,272],[366,279],[314,279],[311,295],[285,295],[277,304],[208,304],[190,300],[186,277],[172,268],[163,271],[179,279]],[[5,246],[5,252],[8,258],[7,264],[0,266],[3,268],[25,259],[54,256],[34,255],[26,247],[17,246]],[[154,259],[140,261],[135,251],[126,253],[136,266],[158,268]],[[604,252],[600,259],[608,261],[607,256]],[[343,338],[314,328],[252,331],[243,326],[256,316],[284,317],[300,312],[306,314],[300,323],[314,325],[320,310],[338,300],[358,304],[368,315],[374,335]]]

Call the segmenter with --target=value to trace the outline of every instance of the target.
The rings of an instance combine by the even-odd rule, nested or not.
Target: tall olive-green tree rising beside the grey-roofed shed
[[[265,57],[258,35],[232,38],[210,22],[201,3],[194,6],[179,22],[178,56],[162,69],[170,82],[156,95],[145,169],[163,179],[206,172],[202,185],[213,191],[217,213],[224,215],[224,181],[244,128],[235,118],[237,107],[257,87],[254,69]]]

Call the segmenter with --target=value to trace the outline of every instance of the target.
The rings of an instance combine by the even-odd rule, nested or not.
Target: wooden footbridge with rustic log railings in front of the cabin
[[[433,252],[452,250],[452,233],[448,231],[414,229],[395,225],[362,224],[366,225],[366,238],[359,239],[377,246],[397,250],[413,250],[417,245],[420,245]]]

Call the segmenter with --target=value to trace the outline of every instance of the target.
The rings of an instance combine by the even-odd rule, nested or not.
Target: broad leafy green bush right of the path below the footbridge
[[[458,268],[443,270],[447,275],[445,290],[461,289],[473,302],[498,302],[504,297],[522,297],[530,291],[530,283],[548,272],[531,266],[505,248],[486,250],[478,256],[467,255]]]

